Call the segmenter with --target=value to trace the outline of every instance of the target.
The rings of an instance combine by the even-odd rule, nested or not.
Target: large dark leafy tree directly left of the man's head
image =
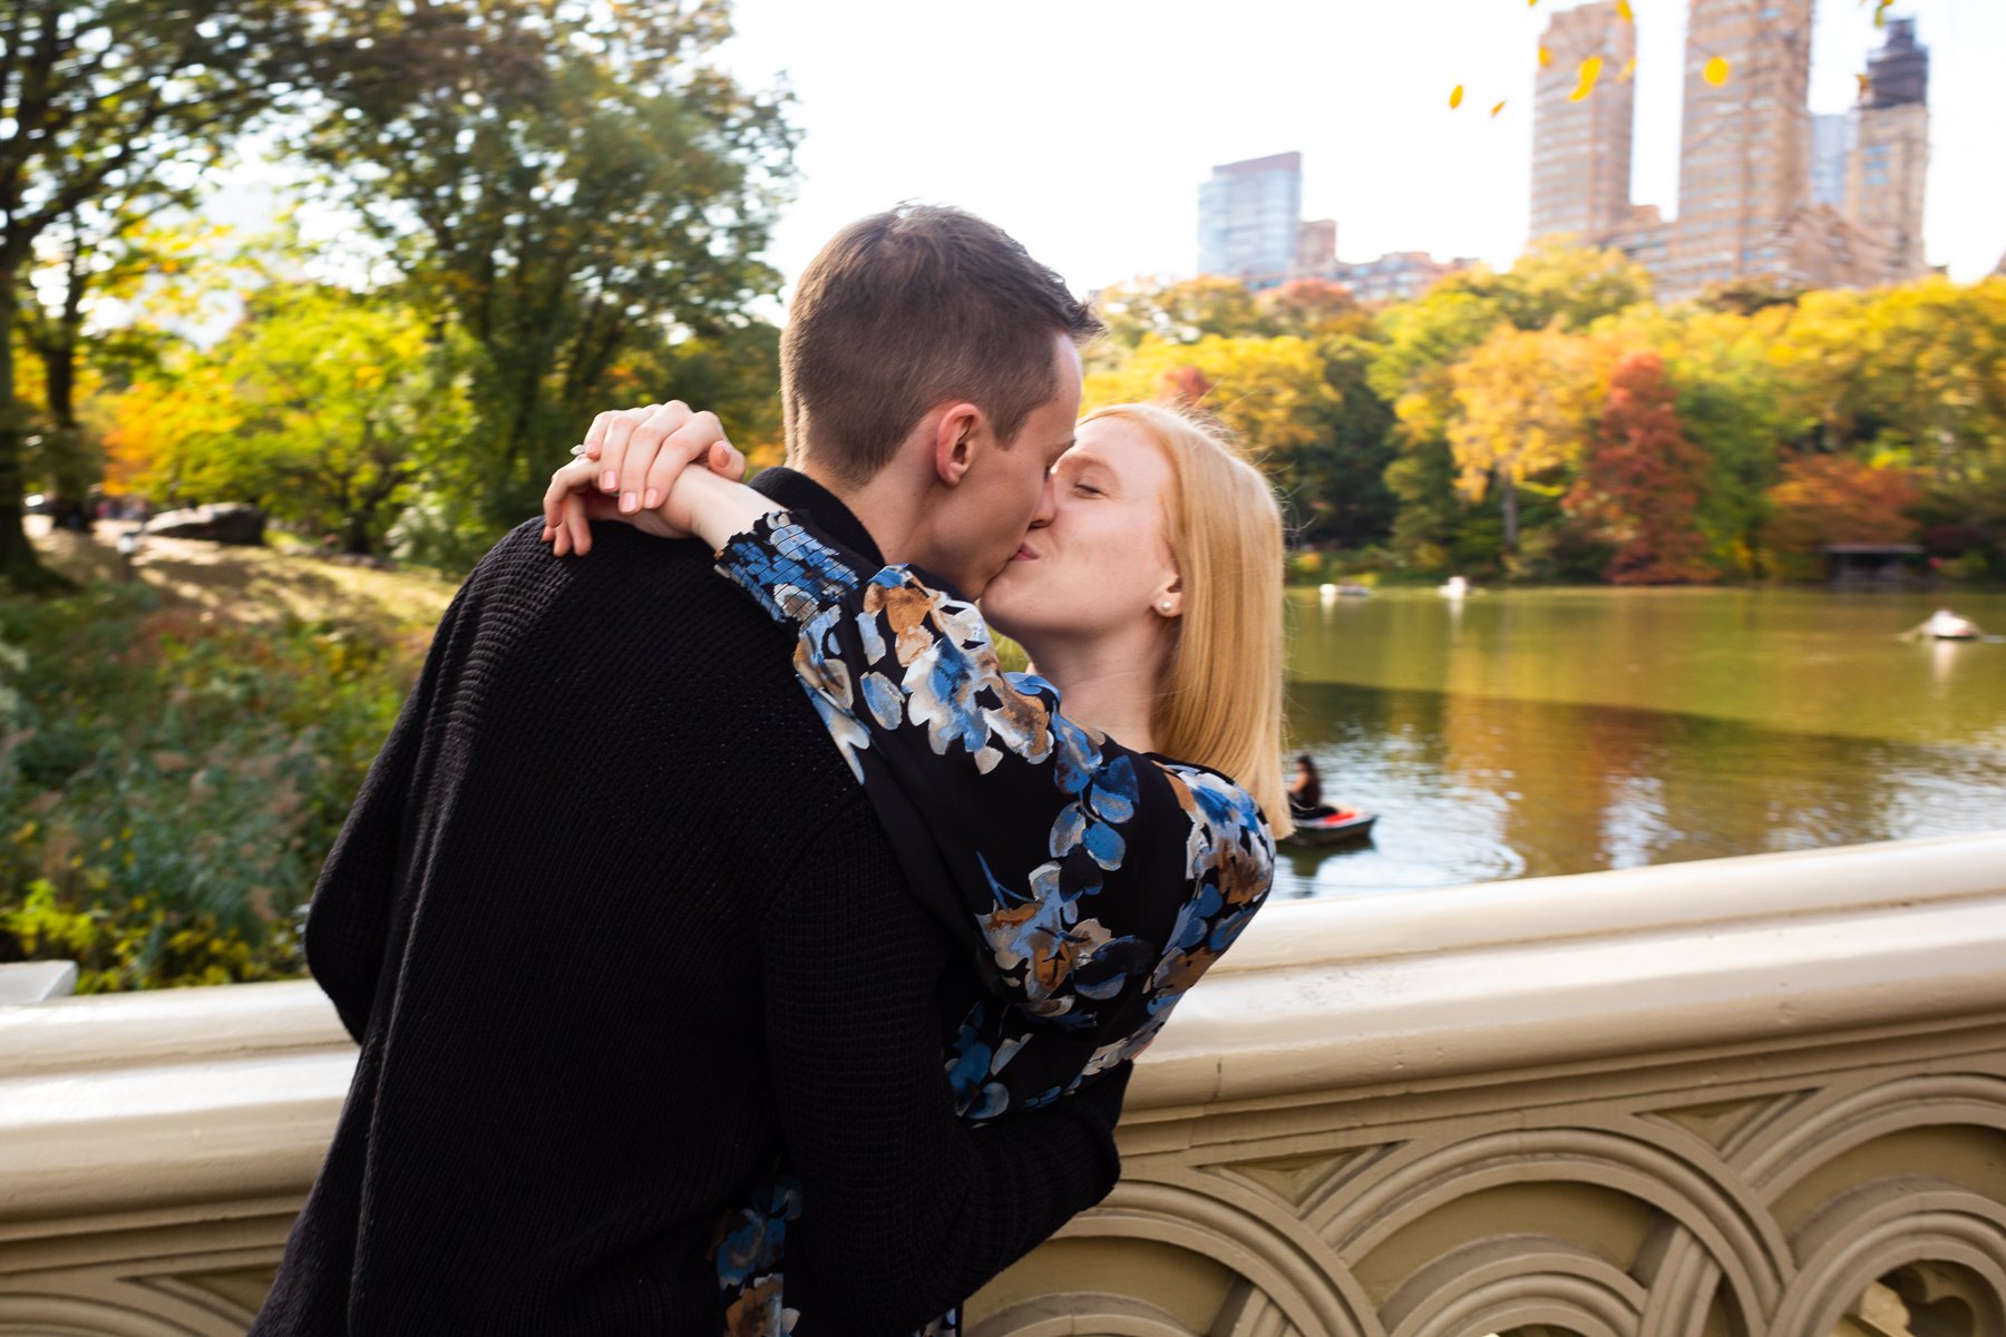
[[[628,353],[776,291],[758,255],[794,130],[784,96],[718,68],[722,0],[355,6],[353,22],[361,72],[331,82],[307,148],[477,349],[499,527],[616,407]]]

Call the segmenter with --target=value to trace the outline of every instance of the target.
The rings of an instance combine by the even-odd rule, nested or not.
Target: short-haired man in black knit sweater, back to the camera
[[[847,229],[796,289],[800,469],[762,505],[981,593],[1051,505],[1093,331],[977,218]],[[706,431],[602,415],[608,463],[664,467],[612,469],[628,513]],[[1125,1054],[959,1117],[975,972],[802,694],[800,627],[698,543],[604,525],[560,561],[540,529],[447,609],[315,892],[307,958],[361,1054],[251,1331],[909,1333],[1107,1193]],[[782,1239],[784,1297],[756,1293]]]

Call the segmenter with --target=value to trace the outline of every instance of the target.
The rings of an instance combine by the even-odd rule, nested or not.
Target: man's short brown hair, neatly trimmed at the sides
[[[993,222],[937,204],[871,214],[794,287],[780,335],[788,459],[869,483],[929,409],[955,399],[1009,445],[1059,391],[1053,337],[1099,331]]]

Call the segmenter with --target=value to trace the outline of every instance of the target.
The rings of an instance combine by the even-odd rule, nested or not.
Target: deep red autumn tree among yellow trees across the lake
[[[1713,579],[1699,531],[1699,497],[1711,461],[1679,423],[1675,391],[1657,353],[1625,353],[1609,373],[1595,443],[1567,509],[1613,553],[1617,585]]]

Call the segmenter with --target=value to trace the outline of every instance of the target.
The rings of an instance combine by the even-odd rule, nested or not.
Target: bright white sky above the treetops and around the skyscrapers
[[[1504,267],[1525,245],[1535,52],[1557,8],[1573,4],[738,0],[724,60],[798,100],[802,174],[768,253],[788,281],[839,227],[905,198],[999,222],[1079,291],[1190,275],[1212,164],[1288,150],[1340,259]],[[1671,216],[1685,0],[1633,10],[1631,198]],[[1974,281],[2006,253],[2006,0],[1894,14],[1932,54],[1928,259]],[[1813,112],[1854,102],[1880,40],[1864,0],[1817,0]]]

